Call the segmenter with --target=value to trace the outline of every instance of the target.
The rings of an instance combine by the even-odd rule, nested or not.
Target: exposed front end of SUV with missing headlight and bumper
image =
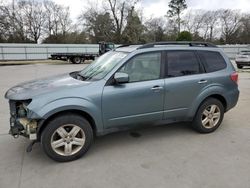
[[[10,131],[9,133],[17,138],[19,135],[28,137],[30,140],[37,139],[37,121],[29,119],[27,106],[31,100],[13,101],[10,100]]]

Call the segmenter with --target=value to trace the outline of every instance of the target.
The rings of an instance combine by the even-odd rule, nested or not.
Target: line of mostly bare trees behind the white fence
[[[239,10],[191,10],[185,0],[171,0],[163,17],[145,18],[139,0],[91,4],[76,21],[69,7],[51,0],[0,1],[2,43],[139,44],[166,40],[250,43],[250,14]],[[166,7],[167,9],[167,7]]]

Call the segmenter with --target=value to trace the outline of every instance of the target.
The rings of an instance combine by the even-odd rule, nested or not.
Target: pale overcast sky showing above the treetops
[[[89,2],[101,4],[102,0],[54,0],[58,4],[70,7],[71,16],[75,19],[84,8],[88,7]],[[164,16],[168,10],[170,0],[141,0],[140,7],[144,15],[149,17]],[[188,8],[191,9],[239,9],[242,12],[250,13],[250,0],[186,0]]]

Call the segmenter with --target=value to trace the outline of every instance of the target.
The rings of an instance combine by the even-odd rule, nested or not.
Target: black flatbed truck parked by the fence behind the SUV
[[[96,57],[113,50],[115,48],[114,43],[111,42],[99,42],[98,53],[53,53],[51,54],[52,60],[70,61],[73,64],[83,63],[85,60],[95,60]]]

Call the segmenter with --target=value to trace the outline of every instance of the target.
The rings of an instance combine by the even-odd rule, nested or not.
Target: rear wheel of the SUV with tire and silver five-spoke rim
[[[192,126],[200,133],[211,133],[220,126],[224,112],[224,106],[219,100],[208,98],[200,105]]]

